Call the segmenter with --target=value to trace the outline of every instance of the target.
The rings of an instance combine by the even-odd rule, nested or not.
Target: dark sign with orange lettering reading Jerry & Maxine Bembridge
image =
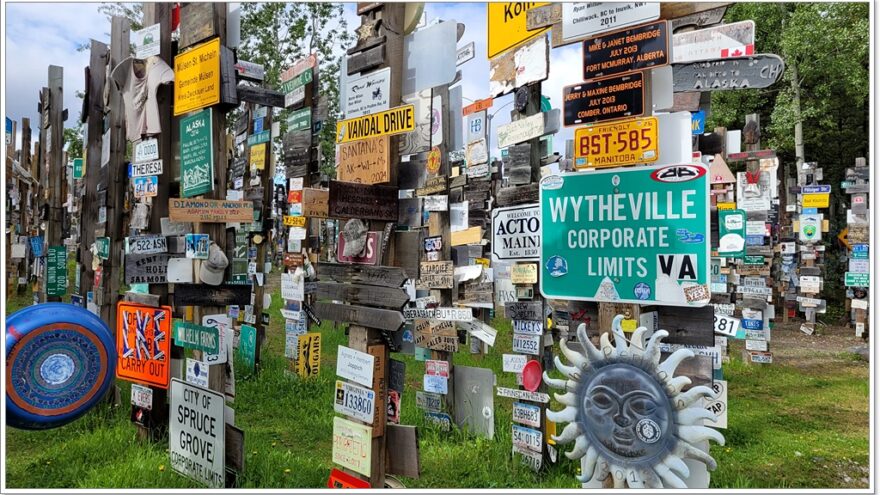
[[[565,86],[562,88],[563,125],[589,124],[645,112],[644,73]]]

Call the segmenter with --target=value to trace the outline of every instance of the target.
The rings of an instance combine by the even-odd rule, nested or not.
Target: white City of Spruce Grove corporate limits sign
[[[225,407],[222,393],[171,380],[171,469],[211,488],[225,486]]]

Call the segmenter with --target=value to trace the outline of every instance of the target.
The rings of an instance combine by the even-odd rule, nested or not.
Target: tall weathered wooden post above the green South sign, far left
[[[48,193],[49,193],[49,217],[46,222],[46,247],[61,245],[61,222],[64,215],[61,206],[62,182],[64,177],[64,122],[61,113],[64,107],[63,98],[64,86],[64,69],[57,65],[49,66],[49,128],[46,133],[48,136],[47,162],[49,165],[48,173]],[[48,269],[48,264],[44,268]],[[46,294],[48,288],[48,279],[44,275],[43,294]],[[45,296],[47,302],[61,301],[60,297]]]

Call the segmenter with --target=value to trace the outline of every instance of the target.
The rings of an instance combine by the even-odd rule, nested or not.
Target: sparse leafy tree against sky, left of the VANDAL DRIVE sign
[[[265,84],[278,88],[281,73],[297,60],[318,56],[318,94],[327,101],[327,119],[318,135],[322,172],[332,175],[339,110],[339,64],[353,40],[343,5],[333,3],[242,3],[239,58],[262,64]],[[282,132],[286,130],[281,119]]]

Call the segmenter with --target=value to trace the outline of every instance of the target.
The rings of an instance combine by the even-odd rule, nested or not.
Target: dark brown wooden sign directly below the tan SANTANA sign
[[[398,217],[396,187],[368,186],[330,181],[329,215],[334,218],[395,221]]]

